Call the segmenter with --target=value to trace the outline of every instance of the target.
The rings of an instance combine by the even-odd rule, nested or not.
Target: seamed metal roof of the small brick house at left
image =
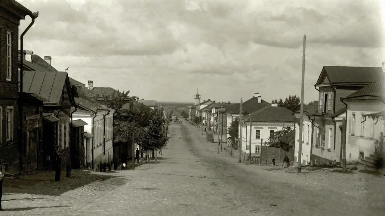
[[[23,71],[23,92],[48,99],[44,104],[58,104],[66,80],[67,72]]]

